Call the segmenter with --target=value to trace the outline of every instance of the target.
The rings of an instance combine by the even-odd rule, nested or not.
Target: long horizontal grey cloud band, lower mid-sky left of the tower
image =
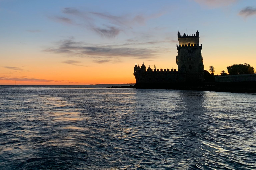
[[[152,43],[152,42],[151,42]],[[66,54],[68,56],[79,56],[86,58],[103,59],[98,62],[107,62],[109,57],[132,57],[132,58],[154,58],[158,57],[161,49],[127,47],[129,44],[120,45],[97,45],[75,42],[72,39],[60,41],[56,47],[47,48],[44,51]],[[134,43],[132,43],[134,46]],[[106,60],[106,58],[108,60]],[[97,61],[96,61],[97,62]],[[73,63],[74,64],[74,63]]]

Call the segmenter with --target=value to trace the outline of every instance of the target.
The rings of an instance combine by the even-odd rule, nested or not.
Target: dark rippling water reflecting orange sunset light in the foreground
[[[256,169],[256,95],[0,87],[0,169]]]

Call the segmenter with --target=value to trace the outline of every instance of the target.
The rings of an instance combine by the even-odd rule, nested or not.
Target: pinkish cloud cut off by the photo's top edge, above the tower
[[[211,8],[228,6],[236,3],[238,0],[194,0],[200,5],[206,5]]]

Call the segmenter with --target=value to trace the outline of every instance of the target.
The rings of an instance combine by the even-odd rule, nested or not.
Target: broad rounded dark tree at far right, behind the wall
[[[254,68],[250,64],[234,64],[227,67],[230,75],[236,74],[254,74]]]

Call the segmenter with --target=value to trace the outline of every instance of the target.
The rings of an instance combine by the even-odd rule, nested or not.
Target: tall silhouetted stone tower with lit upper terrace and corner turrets
[[[186,73],[187,82],[200,82],[204,75],[204,64],[202,58],[202,44],[199,45],[199,32],[190,35],[181,35],[178,32],[179,45],[176,63],[178,71]]]

